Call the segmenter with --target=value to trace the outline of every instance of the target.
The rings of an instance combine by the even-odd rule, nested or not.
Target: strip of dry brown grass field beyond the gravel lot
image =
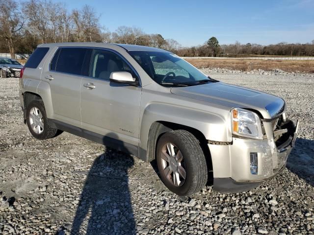
[[[258,59],[186,59],[197,68],[226,68],[231,70],[271,71],[280,69],[287,72],[314,73],[314,60],[258,60]]]

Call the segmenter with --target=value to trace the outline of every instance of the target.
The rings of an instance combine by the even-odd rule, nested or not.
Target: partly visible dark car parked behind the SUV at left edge
[[[17,60],[0,57],[0,77],[19,77],[21,73],[21,65]]]

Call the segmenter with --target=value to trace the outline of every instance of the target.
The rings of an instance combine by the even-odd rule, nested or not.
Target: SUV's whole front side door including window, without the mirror
[[[128,71],[136,76],[116,53],[94,49],[90,78],[81,80],[82,128],[138,146],[141,88],[110,82],[113,71]]]

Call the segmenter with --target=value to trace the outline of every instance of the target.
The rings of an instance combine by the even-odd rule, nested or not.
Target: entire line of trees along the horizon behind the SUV
[[[100,15],[89,5],[69,11],[64,3],[52,0],[0,0],[0,52],[9,51],[15,58],[15,54],[32,53],[38,44],[58,42],[134,44],[166,49],[179,56],[314,56],[314,40],[308,44],[219,45],[211,37],[203,45],[182,47],[174,39],[147,34],[138,27],[120,26],[111,32],[100,24]]]

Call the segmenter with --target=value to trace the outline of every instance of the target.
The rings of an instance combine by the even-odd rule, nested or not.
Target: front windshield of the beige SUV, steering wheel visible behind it
[[[214,82],[179,56],[170,52],[129,51],[144,71],[164,86],[192,86]]]

